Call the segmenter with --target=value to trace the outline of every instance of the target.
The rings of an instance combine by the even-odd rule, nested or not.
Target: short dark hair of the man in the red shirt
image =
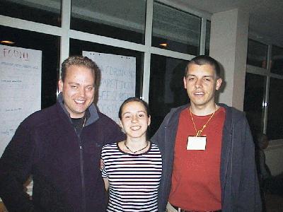
[[[187,70],[189,69],[190,64],[197,64],[199,66],[202,65],[210,65],[214,67],[214,71],[216,73],[216,78],[220,78],[220,66],[218,61],[216,59],[213,59],[212,57],[209,57],[207,55],[199,55],[197,57],[194,57],[191,61],[187,63],[187,66],[185,68],[185,77],[187,76]]]

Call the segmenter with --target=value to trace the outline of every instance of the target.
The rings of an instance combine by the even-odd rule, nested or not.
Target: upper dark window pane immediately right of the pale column
[[[267,68],[267,50],[268,46],[255,40],[248,40],[247,64]]]

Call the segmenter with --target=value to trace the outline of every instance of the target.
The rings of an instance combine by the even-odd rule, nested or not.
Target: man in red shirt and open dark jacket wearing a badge
[[[255,150],[243,112],[216,105],[221,86],[215,59],[186,67],[189,105],[171,110],[151,139],[162,154],[158,211],[261,211]]]

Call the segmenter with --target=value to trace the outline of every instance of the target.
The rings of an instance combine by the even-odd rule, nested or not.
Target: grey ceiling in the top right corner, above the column
[[[234,8],[250,13],[250,34],[258,40],[283,47],[282,0],[172,0],[198,11],[218,13]]]

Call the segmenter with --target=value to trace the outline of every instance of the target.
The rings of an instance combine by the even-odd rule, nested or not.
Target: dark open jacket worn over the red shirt
[[[221,210],[223,212],[262,211],[258,176],[255,168],[255,147],[250,127],[243,112],[224,104],[226,118],[221,146]],[[165,211],[171,190],[175,137],[180,112],[190,105],[171,110],[151,141],[160,148],[163,174],[158,190],[158,211]]]

